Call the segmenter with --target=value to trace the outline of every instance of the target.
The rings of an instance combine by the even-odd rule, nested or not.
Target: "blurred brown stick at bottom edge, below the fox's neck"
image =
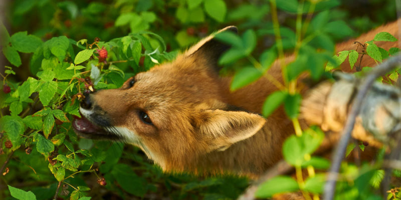
[[[253,182],[252,185],[249,186],[247,190],[245,190],[245,192],[238,197],[238,200],[255,199],[255,192],[260,184],[274,176],[288,173],[292,169],[294,169],[293,166],[289,165],[285,160],[280,160],[279,162],[277,162],[276,165],[270,167],[269,170],[267,170],[262,176],[260,176],[259,179]]]

